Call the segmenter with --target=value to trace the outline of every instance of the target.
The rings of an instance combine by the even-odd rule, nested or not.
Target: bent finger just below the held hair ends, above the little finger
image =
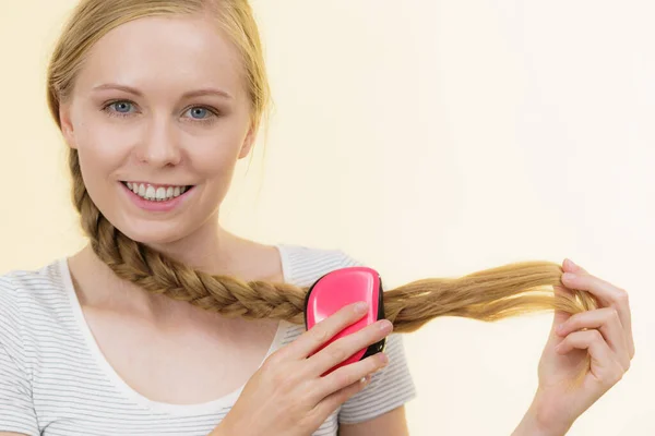
[[[582,312],[571,316],[561,324],[557,334],[565,337],[582,329],[597,329],[609,348],[616,353],[626,371],[630,368],[630,356],[626,335],[618,312],[612,307],[603,307],[595,311]]]

